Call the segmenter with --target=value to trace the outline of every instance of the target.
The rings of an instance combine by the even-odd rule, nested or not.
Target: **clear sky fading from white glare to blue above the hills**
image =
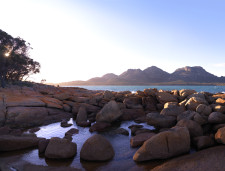
[[[223,0],[0,0],[0,29],[31,44],[49,83],[157,66],[225,76]]]

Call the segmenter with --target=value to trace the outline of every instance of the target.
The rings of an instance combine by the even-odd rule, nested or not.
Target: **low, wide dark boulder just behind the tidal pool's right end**
[[[147,114],[147,123],[157,128],[170,128],[176,124],[174,116],[161,115],[157,112]]]

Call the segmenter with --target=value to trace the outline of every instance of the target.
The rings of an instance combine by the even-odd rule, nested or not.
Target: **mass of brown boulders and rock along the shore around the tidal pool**
[[[224,94],[194,90],[146,89],[131,93],[48,86],[0,89],[0,125],[4,126],[0,128],[0,151],[17,150],[17,143],[19,149],[38,146],[47,158],[74,157],[77,146],[71,141],[79,130],[68,131],[63,139],[50,140],[9,135],[12,128],[58,121],[61,126],[69,127],[67,121],[73,117],[78,128],[90,127],[90,132],[97,133],[110,130],[112,134],[123,135],[129,132],[123,128],[111,130],[115,123],[146,122],[155,130],[141,125],[129,127],[131,147],[140,146],[133,159],[138,162],[167,159],[189,153],[191,147],[202,150],[225,144],[224,101]],[[114,157],[114,150],[107,139],[95,134],[83,144],[80,157],[87,161],[106,161]]]

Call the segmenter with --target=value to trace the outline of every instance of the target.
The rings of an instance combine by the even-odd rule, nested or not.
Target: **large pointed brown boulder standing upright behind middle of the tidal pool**
[[[113,122],[122,115],[119,105],[114,101],[107,103],[102,110],[96,115],[98,122]]]

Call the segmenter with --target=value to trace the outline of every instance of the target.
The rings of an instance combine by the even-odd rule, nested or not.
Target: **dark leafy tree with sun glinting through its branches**
[[[29,43],[20,37],[13,38],[0,29],[0,80],[22,81],[26,76],[40,72],[40,64],[29,57]]]

